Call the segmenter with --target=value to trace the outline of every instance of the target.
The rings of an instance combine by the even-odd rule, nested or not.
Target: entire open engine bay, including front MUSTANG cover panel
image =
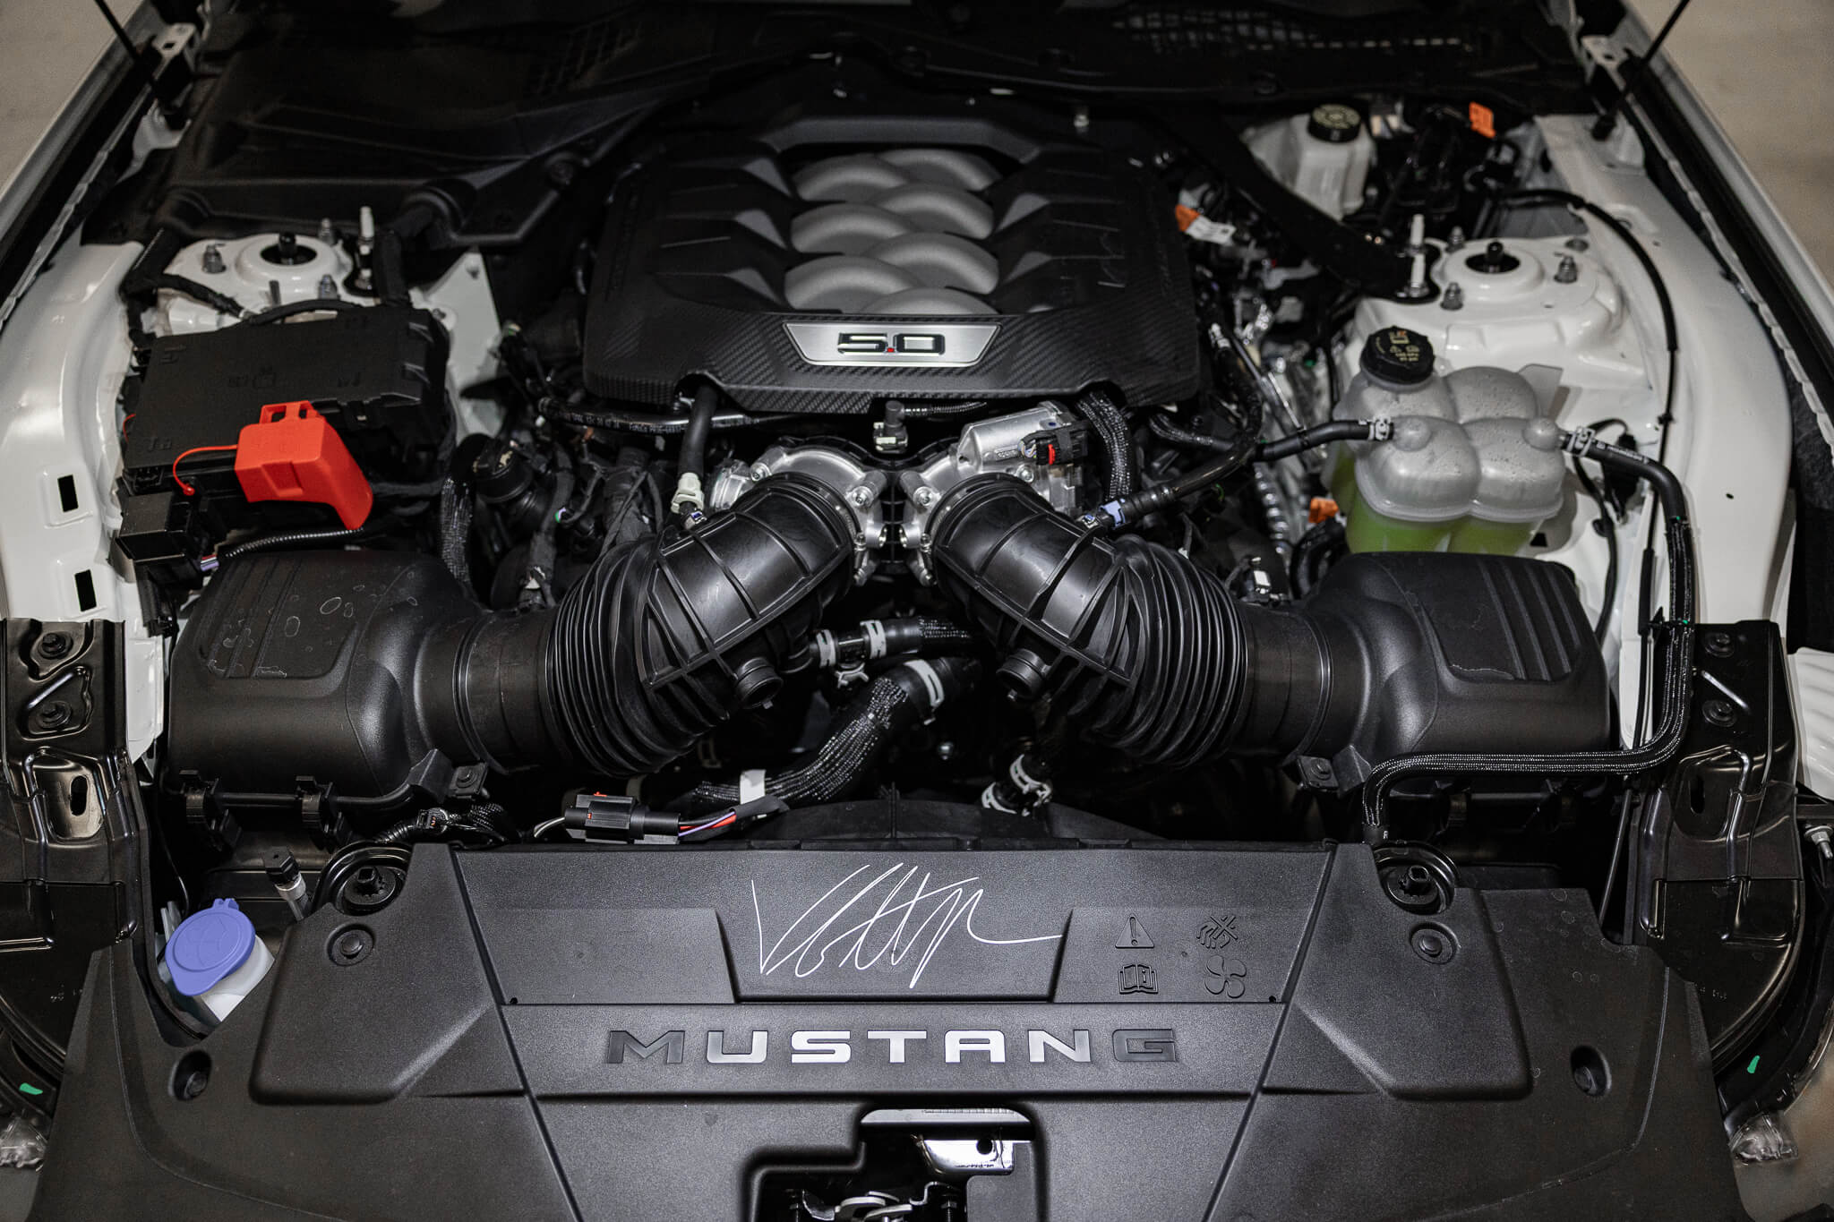
[[[117,462],[108,562],[11,612],[15,762],[147,914],[39,1015],[147,1050],[64,1143],[262,1202],[303,1112],[492,1149],[387,1217],[1737,1207],[1825,863],[1729,517],[1775,489],[1706,475],[1788,427],[1704,399],[1784,396],[1539,18],[1199,108],[1185,9],[1080,27],[1154,101],[666,7],[427,18],[475,81],[361,121],[259,82],[387,48],[218,22],[46,273]]]

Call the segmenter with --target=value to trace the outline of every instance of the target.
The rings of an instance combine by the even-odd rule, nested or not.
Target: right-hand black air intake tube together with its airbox
[[[1414,751],[1579,751],[1610,731],[1603,660],[1553,564],[1353,555],[1302,605],[1249,605],[1005,475],[952,489],[928,548],[961,621],[1001,654],[996,680],[1141,764],[1271,753],[1350,788]]]

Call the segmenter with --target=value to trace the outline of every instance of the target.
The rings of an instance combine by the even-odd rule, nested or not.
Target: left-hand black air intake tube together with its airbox
[[[237,557],[172,650],[172,769],[227,804],[297,802],[293,779],[354,808],[436,799],[473,762],[651,771],[770,698],[851,586],[853,533],[838,495],[778,475],[532,614],[482,610],[429,555]]]

